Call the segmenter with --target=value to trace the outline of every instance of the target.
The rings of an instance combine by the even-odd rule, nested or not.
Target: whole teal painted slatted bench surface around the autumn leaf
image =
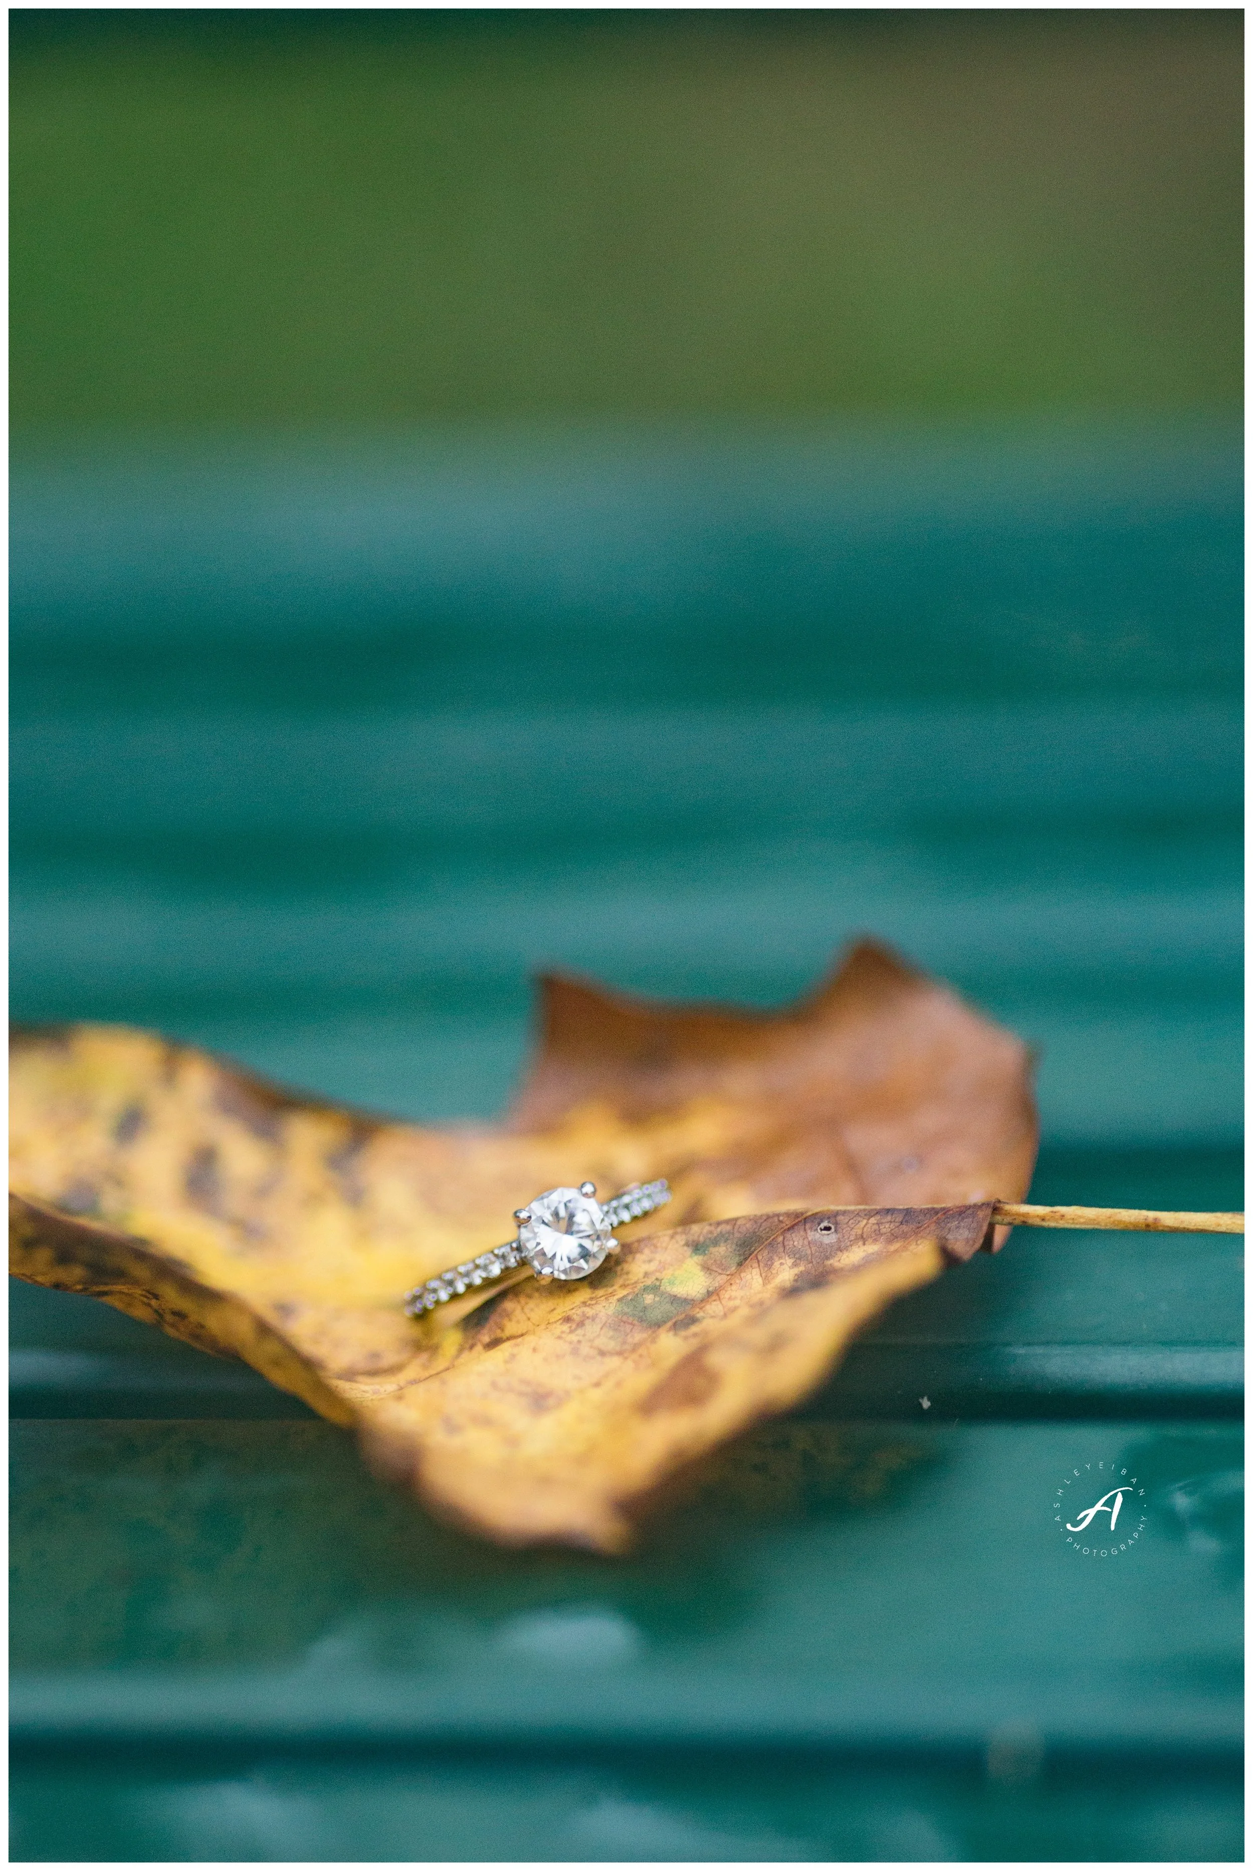
[[[1038,1199],[1240,1207],[1238,515],[1212,427],[24,470],[15,1010],[439,1121],[535,965],[870,928],[1042,1048]],[[1240,1250],[1019,1229],[621,1566],[19,1287],[15,1852],[1234,1858]]]

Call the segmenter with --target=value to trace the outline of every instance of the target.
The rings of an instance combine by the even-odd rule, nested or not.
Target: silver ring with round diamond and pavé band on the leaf
[[[421,1319],[436,1306],[445,1306],[471,1287],[499,1280],[518,1267],[529,1267],[537,1280],[585,1280],[608,1254],[617,1254],[615,1227],[625,1227],[626,1222],[651,1214],[670,1201],[670,1182],[664,1179],[632,1182],[606,1203],[598,1203],[595,1196],[595,1182],[546,1188],[526,1209],[514,1209],[514,1220],[520,1224],[516,1240],[507,1240],[503,1248],[490,1248],[473,1261],[462,1261],[460,1267],[449,1267],[447,1272],[425,1280],[406,1295],[404,1310],[411,1319]]]

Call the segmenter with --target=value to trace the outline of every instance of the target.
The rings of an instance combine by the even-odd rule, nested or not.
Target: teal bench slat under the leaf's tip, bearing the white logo
[[[26,1424],[15,1456],[30,1736],[1238,1738],[1238,1426],[771,1426],[615,1564],[438,1530],[325,1424]],[[1075,1469],[1137,1482],[1126,1551],[1066,1545]]]

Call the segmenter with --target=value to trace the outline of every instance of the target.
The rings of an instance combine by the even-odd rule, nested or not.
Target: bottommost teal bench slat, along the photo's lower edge
[[[198,1753],[13,1768],[32,1858],[380,1860],[1240,1860],[1236,1770],[984,1768],[873,1761],[477,1755],[309,1766]],[[36,1849],[37,1847],[37,1849]]]

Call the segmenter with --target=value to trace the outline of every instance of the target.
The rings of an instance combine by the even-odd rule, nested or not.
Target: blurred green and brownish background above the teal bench
[[[19,9],[15,430],[1225,410],[1240,30]]]

